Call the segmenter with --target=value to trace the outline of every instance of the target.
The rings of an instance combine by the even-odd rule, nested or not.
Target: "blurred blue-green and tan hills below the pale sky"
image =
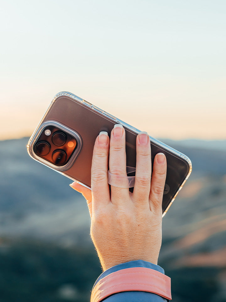
[[[162,141],[185,153],[193,168],[163,219],[159,265],[172,279],[173,301],[225,302],[226,141]],[[30,301],[39,284],[49,294],[33,301],[88,301],[84,293],[90,293],[100,265],[89,236],[86,201],[68,186],[70,179],[31,159],[27,142],[28,138],[0,141],[0,254],[4,259],[0,278],[4,280],[6,274],[7,280],[13,280],[2,283],[1,293],[9,297],[12,283],[14,295],[20,297],[17,301]],[[74,259],[68,254],[74,254]],[[76,267],[79,274],[85,261],[82,254],[93,259],[96,274],[89,278],[84,273],[87,287],[80,290],[69,267]],[[67,262],[64,269],[61,261]],[[46,266],[39,270],[38,263]],[[67,275],[67,268],[64,280],[55,278],[49,284],[53,271]],[[21,279],[22,275],[28,277]],[[38,283],[21,293],[20,288],[32,278]],[[22,280],[21,286],[16,286],[17,279]],[[2,301],[13,301],[13,296]]]

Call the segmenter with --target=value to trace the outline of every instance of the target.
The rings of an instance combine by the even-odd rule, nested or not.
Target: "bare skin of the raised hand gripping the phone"
[[[70,186],[87,200],[91,218],[90,235],[103,271],[131,260],[157,264],[162,242],[162,198],[166,158],[154,158],[151,177],[151,147],[146,132],[137,136],[137,165],[133,193],[108,184],[112,174],[126,176],[125,130],[115,126],[110,139],[100,134],[95,141],[91,190],[78,182]]]

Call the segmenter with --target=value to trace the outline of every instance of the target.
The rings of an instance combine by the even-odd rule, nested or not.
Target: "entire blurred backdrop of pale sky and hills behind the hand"
[[[186,154],[163,219],[173,302],[226,302],[226,2],[0,1],[0,302],[89,301],[86,201],[28,137],[69,91]]]

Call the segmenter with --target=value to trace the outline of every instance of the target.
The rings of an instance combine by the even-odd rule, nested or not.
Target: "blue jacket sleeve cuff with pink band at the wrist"
[[[91,302],[166,302],[171,300],[170,278],[158,265],[129,261],[104,271],[94,283]]]

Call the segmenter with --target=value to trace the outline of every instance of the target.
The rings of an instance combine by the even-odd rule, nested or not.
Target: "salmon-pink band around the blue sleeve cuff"
[[[170,277],[146,267],[131,267],[115,271],[102,278],[93,288],[91,302],[125,291],[143,291],[171,300]]]

